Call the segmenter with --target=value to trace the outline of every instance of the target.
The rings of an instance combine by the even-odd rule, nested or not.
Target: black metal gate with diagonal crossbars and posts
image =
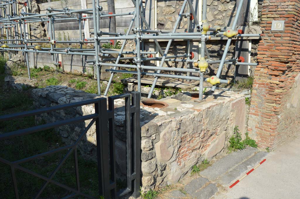
[[[125,98],[125,122],[126,122],[126,168],[127,168],[127,187],[121,189],[119,192],[116,191],[116,153],[115,153],[115,129],[114,129],[114,100]],[[14,187],[14,194],[16,199],[19,199],[19,192],[17,186],[17,179],[15,170],[19,169],[23,172],[31,174],[35,177],[41,178],[46,182],[43,184],[41,189],[35,195],[34,198],[39,198],[41,193],[44,191],[49,183],[55,184],[56,186],[62,187],[71,192],[64,198],[73,198],[75,196],[83,196],[85,198],[95,198],[91,195],[82,193],[80,190],[80,179],[78,172],[78,159],[77,159],[77,145],[81,139],[85,136],[91,126],[96,124],[96,141],[97,141],[97,162],[98,162],[98,186],[99,195],[104,196],[105,199],[118,198],[119,196],[125,195],[132,192],[134,198],[137,198],[140,189],[140,93],[132,92],[131,94],[116,95],[108,98],[108,110],[106,98],[97,98],[92,100],[86,100],[71,104],[64,104],[54,107],[47,107],[38,110],[26,111],[22,113],[14,113],[10,115],[0,116],[0,122],[8,121],[17,118],[23,118],[28,116],[34,116],[42,113],[49,113],[52,111],[65,110],[72,107],[80,107],[83,105],[94,104],[95,113],[85,116],[79,116],[71,119],[65,119],[63,121],[55,121],[53,123],[47,123],[35,127],[26,129],[20,129],[9,133],[0,134],[0,141],[4,139],[13,138],[16,136],[23,136],[30,133],[35,133],[41,130],[51,129],[67,124],[76,124],[86,120],[91,122],[85,127],[80,134],[79,138],[75,143],[56,148],[51,151],[47,151],[41,154],[36,154],[31,157],[19,159],[17,161],[8,161],[0,157],[0,162],[9,165],[11,170],[11,179]],[[107,128],[109,124],[109,128]],[[34,140],[33,140],[34,142]],[[43,176],[34,171],[20,166],[21,163],[31,161],[40,157],[44,157],[50,154],[55,154],[66,150],[67,154],[58,163],[55,170],[50,176]],[[74,154],[75,160],[75,173],[76,173],[76,188],[72,188],[63,183],[53,180],[53,177],[64,164],[65,160]],[[0,171],[1,172],[1,171]],[[5,196],[1,196],[6,198]],[[96,198],[95,198],[96,199]]]

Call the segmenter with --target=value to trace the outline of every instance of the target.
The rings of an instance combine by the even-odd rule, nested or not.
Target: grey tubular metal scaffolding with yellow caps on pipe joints
[[[44,14],[36,14],[36,13],[28,13],[26,7],[23,8],[21,15],[19,16],[19,11],[17,10],[16,4],[18,3],[16,0],[6,1],[1,0],[0,9],[2,10],[3,16],[0,17],[0,30],[1,35],[3,35],[3,31],[5,30],[6,38],[1,39],[2,43],[0,51],[22,51],[25,53],[25,62],[28,68],[28,77],[30,77],[29,70],[29,59],[28,53],[46,53],[52,55],[52,60],[55,62],[55,65],[59,65],[59,60],[57,54],[69,54],[69,55],[89,55],[94,56],[93,60],[87,60],[86,63],[94,65],[96,67],[97,74],[97,83],[98,83],[98,94],[101,94],[101,84],[100,84],[100,67],[101,66],[110,66],[110,69],[106,69],[107,72],[110,72],[110,79],[108,81],[107,88],[104,92],[106,96],[110,85],[113,80],[113,76],[116,73],[130,73],[137,75],[138,80],[138,91],[141,92],[141,75],[151,75],[154,77],[151,89],[148,94],[148,98],[151,98],[152,92],[156,86],[157,80],[159,77],[167,77],[167,78],[180,78],[185,80],[199,80],[199,100],[202,100],[202,92],[203,92],[203,81],[207,81],[212,85],[212,91],[215,90],[216,84],[218,83],[229,83],[229,80],[220,79],[220,75],[222,72],[222,68],[224,64],[235,64],[235,65],[250,65],[256,66],[256,63],[243,63],[238,58],[226,60],[226,54],[228,52],[228,48],[230,46],[231,40],[234,37],[259,37],[260,34],[238,34],[236,31],[237,21],[240,17],[240,11],[243,4],[243,0],[239,1],[237,6],[236,15],[234,22],[231,28],[221,29],[218,26],[210,27],[206,20],[206,0],[202,0],[202,20],[199,21],[197,19],[197,13],[193,7],[192,0],[184,0],[177,20],[174,24],[173,30],[163,31],[163,30],[152,30],[145,19],[145,13],[142,12],[141,8],[143,8],[143,2],[132,0],[135,11],[129,13],[117,13],[117,14],[106,14],[102,13],[102,7],[99,5],[99,0],[92,2],[92,8],[90,9],[80,9],[80,10],[72,10],[68,8],[64,9],[53,9],[51,7],[47,8],[47,13]],[[25,3],[26,5],[26,3]],[[187,13],[184,13],[185,7],[187,7]],[[10,10],[10,13],[13,13],[13,16],[7,14],[7,10]],[[198,10],[198,9],[197,9]],[[84,15],[83,15],[84,14]],[[125,16],[125,15],[133,15],[131,19],[131,23],[128,27],[128,30],[125,34],[120,33],[107,33],[100,31],[100,19],[103,17],[113,17],[113,16]],[[59,18],[58,18],[59,17]],[[187,28],[186,33],[176,32],[179,22],[183,17],[188,17],[191,19],[192,24],[196,27],[195,31],[191,32],[191,28]],[[83,38],[81,33],[81,22],[85,19],[93,19],[94,32],[91,34],[94,35],[93,38]],[[57,41],[55,40],[55,21],[63,21],[63,20],[76,20],[79,23],[79,40],[71,40],[71,41]],[[33,22],[47,22],[48,24],[48,34],[49,39],[28,39],[26,36],[26,24]],[[135,28],[132,29],[133,24],[135,22]],[[190,26],[190,25],[188,25]],[[10,28],[13,31],[8,31]],[[19,34],[23,33],[23,34]],[[95,34],[97,33],[97,34]],[[205,42],[211,39],[211,37],[227,37],[226,47],[223,52],[223,56],[220,60],[212,61],[209,57],[208,50],[206,48]],[[159,39],[167,39],[168,43],[163,51],[161,46],[159,45]],[[187,40],[187,48],[185,54],[180,55],[168,55],[168,51],[173,40]],[[108,51],[101,47],[101,43],[107,43],[108,40],[122,40],[121,49],[118,51]],[[126,45],[127,40],[134,40],[136,43],[136,49],[134,51],[123,51]],[[156,45],[156,49],[158,52],[144,51],[143,46],[144,42],[148,40],[153,40]],[[201,51],[200,51],[200,59],[192,59],[190,56],[190,42],[193,40],[201,41]],[[42,48],[40,45],[33,45],[33,43],[50,43],[51,48]],[[58,43],[67,43],[67,44],[80,44],[80,48],[56,48],[56,44]],[[87,43],[93,43],[93,49],[83,49],[82,45]],[[142,49],[141,49],[142,48]],[[152,57],[147,56],[149,54],[160,54],[160,57]],[[118,54],[116,58],[110,58],[110,54]],[[123,57],[125,54],[132,54],[135,57]],[[205,59],[205,55],[207,59]],[[10,53],[9,53],[10,56]],[[104,58],[104,56],[109,58]],[[119,64],[120,60],[132,60],[135,65],[129,64]],[[143,63],[146,61],[159,61],[159,66],[146,66]],[[175,61],[175,62],[183,62],[188,66],[190,63],[193,64],[193,68],[175,68],[175,67],[163,67],[164,62],[167,61]],[[114,62],[114,63],[111,63]],[[217,74],[211,76],[210,78],[204,78],[204,74],[209,64],[219,63],[219,67],[217,70]],[[127,71],[127,70],[119,70],[118,68],[131,68],[136,69],[136,71]],[[148,70],[154,72],[148,72]],[[164,71],[165,73],[161,73]],[[173,75],[170,72],[181,72],[186,73],[186,75]],[[167,74],[166,74],[167,73]],[[192,74],[194,74],[192,76]]]

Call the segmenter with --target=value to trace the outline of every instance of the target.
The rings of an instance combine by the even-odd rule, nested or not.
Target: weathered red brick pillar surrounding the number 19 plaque
[[[260,147],[272,149],[299,132],[300,1],[264,0],[262,6],[248,131]],[[284,31],[271,31],[272,20],[284,20]]]

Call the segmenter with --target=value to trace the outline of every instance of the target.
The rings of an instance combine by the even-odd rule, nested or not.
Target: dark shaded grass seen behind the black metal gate
[[[0,67],[1,66],[3,65],[1,65],[0,62]],[[0,115],[34,109],[33,100],[30,98],[29,93],[5,88],[4,77],[5,75],[0,75]],[[34,116],[0,122],[0,134],[36,125]],[[61,136],[55,133],[53,129],[49,129],[25,136],[1,140],[0,157],[10,161],[15,161],[62,146],[64,146],[64,143],[61,140]],[[33,161],[22,163],[20,166],[48,177],[54,171],[58,162],[61,161],[66,152],[67,150],[61,151],[61,153],[55,153],[38,158]],[[100,197],[98,195],[97,163],[83,159],[79,151],[77,154],[81,191],[96,198]],[[64,162],[63,166],[55,174],[53,180],[76,189],[76,174],[74,165],[74,157],[73,154],[71,154]],[[0,171],[0,195],[4,196],[5,199],[14,199],[15,196],[11,182],[10,167],[0,163]],[[15,169],[15,172],[20,198],[33,198],[45,181],[18,169]],[[66,189],[49,183],[39,198],[63,198],[68,194],[70,194],[70,192]]]

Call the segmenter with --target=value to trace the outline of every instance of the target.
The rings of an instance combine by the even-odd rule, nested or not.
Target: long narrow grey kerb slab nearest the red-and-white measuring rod
[[[268,152],[258,152],[254,156],[250,157],[246,161],[242,162],[240,165],[236,166],[234,169],[229,171],[224,176],[220,177],[218,181],[223,186],[228,186],[234,181],[238,180],[241,174],[246,174],[251,168],[256,166],[259,162],[261,162],[266,156]]]

